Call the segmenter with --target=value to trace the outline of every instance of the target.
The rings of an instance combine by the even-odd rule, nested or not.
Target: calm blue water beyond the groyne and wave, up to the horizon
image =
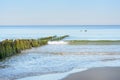
[[[0,39],[70,35],[67,40],[120,40],[120,25],[0,26]]]

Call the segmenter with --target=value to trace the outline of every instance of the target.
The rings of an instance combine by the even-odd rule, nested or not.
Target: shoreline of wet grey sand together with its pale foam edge
[[[120,67],[73,69],[64,73],[29,76],[16,80],[120,80]]]

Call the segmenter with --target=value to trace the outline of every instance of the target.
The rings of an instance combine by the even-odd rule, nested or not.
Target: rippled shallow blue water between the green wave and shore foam
[[[120,45],[46,45],[1,61],[0,78],[12,80],[74,68],[120,66],[119,54]]]

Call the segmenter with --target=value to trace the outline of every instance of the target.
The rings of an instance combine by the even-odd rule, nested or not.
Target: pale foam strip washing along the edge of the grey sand
[[[68,76],[69,74],[84,71],[87,69],[73,69],[69,72],[64,73],[54,73],[54,74],[47,74],[47,75],[41,75],[41,76],[32,76],[32,77],[26,77],[22,79],[17,80],[60,80]]]

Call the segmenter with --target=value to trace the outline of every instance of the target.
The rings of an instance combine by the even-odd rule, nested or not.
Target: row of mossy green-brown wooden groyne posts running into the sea
[[[0,59],[12,56],[14,54],[21,53],[21,51],[26,49],[31,49],[33,47],[40,47],[46,45],[48,41],[58,41],[68,37],[64,36],[49,36],[39,39],[15,39],[15,40],[3,40],[0,42]]]

